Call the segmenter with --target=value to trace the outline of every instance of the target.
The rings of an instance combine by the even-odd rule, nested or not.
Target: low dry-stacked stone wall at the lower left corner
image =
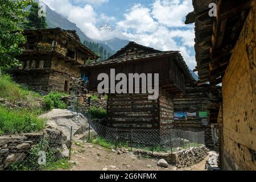
[[[68,157],[67,136],[61,131],[47,129],[40,133],[28,133],[19,136],[0,137],[0,171],[12,164],[24,163],[32,147],[47,139],[49,147],[55,151],[56,158]]]

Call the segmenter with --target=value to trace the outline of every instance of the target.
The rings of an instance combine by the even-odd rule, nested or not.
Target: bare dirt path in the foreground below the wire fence
[[[81,146],[73,145],[72,162],[75,164],[69,171],[203,171],[206,159],[195,166],[177,169],[169,166],[164,169],[158,167],[157,159],[142,158],[129,152],[129,154],[118,155],[97,144],[85,143]]]

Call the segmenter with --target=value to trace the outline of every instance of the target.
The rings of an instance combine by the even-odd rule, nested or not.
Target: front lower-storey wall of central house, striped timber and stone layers
[[[107,125],[159,129],[159,100],[148,100],[148,94],[109,94]]]

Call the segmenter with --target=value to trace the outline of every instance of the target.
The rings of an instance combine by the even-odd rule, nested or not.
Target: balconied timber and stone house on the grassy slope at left
[[[80,65],[98,56],[84,46],[75,31],[52,28],[26,30],[27,43],[17,57],[20,66],[11,69],[16,82],[46,94],[69,92],[73,79],[81,78]]]

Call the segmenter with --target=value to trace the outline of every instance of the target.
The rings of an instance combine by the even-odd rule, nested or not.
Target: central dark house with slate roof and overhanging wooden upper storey
[[[175,94],[185,93],[185,83],[195,81],[178,51],[158,51],[130,42],[102,63],[82,66],[89,76],[89,90],[97,90],[100,73],[159,73],[159,97],[148,100],[144,94],[108,94],[106,125],[119,129],[162,129],[174,121]],[[141,83],[142,85],[142,83]]]

